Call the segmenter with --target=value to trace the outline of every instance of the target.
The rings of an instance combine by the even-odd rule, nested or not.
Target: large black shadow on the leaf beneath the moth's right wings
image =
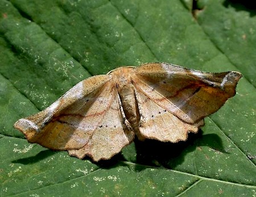
[[[146,166],[174,169],[184,162],[187,154],[196,151],[196,149],[200,150],[201,146],[208,146],[218,152],[226,153],[222,140],[218,135],[203,135],[201,129],[197,134],[189,133],[187,141],[177,143],[135,140],[135,149],[137,151],[135,170],[141,171]]]

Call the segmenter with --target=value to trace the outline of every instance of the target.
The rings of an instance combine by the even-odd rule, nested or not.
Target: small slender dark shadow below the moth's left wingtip
[[[21,158],[18,160],[12,161],[14,164],[35,164],[36,162],[39,162],[40,160],[43,160],[44,158],[50,157],[53,154],[55,154],[54,151],[47,149],[47,150],[42,150],[35,156],[27,157],[27,158]]]

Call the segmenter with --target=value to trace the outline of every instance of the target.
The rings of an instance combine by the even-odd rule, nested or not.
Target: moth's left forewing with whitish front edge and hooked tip
[[[88,132],[83,131],[85,128],[79,127],[82,120],[81,114],[86,109],[83,111],[77,109],[72,112],[71,109],[73,106],[78,106],[76,103],[82,103],[85,106],[98,94],[98,90],[104,88],[105,83],[108,83],[109,80],[109,76],[85,79],[77,83],[45,110],[16,121],[14,127],[23,132],[31,143],[38,143],[55,150],[79,149],[88,142],[90,136]],[[67,118],[69,118],[68,121]],[[94,120],[91,121],[92,124],[95,124],[93,123]]]

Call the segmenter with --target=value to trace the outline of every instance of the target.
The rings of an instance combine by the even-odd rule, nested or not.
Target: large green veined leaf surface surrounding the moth
[[[0,195],[255,196],[256,13],[230,2],[0,0]],[[135,140],[109,161],[13,128],[82,79],[155,61],[243,78],[188,141]]]

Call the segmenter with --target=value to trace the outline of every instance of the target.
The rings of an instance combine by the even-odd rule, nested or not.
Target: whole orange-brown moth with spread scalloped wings
[[[238,72],[167,63],[125,66],[77,83],[38,114],[16,121],[28,142],[70,156],[108,160],[139,140],[187,140],[236,94]]]

